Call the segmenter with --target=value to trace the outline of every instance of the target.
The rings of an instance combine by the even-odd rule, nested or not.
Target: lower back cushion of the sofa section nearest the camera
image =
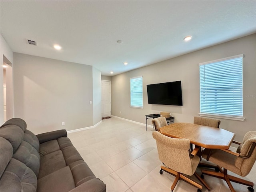
[[[36,192],[35,173],[24,163],[12,158],[1,177],[1,191]]]

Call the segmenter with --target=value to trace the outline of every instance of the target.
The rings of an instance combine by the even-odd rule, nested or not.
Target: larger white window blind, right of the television
[[[243,54],[201,63],[200,113],[243,116]]]

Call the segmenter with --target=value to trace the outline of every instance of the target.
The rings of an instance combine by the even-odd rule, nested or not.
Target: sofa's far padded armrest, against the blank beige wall
[[[39,143],[41,144],[41,143],[44,143],[46,141],[58,139],[60,137],[67,137],[68,133],[66,132],[66,130],[62,129],[62,130],[57,130],[57,131],[51,131],[51,132],[47,132],[47,133],[38,134],[36,136],[39,140]]]

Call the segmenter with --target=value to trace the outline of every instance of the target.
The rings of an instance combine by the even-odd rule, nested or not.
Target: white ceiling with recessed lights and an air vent
[[[1,0],[0,8],[13,52],[92,65],[106,76],[256,32],[256,1]]]

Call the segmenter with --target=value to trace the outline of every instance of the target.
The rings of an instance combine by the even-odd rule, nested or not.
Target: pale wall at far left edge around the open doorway
[[[4,60],[7,63],[13,64],[13,52],[6,40],[0,34],[0,125],[4,122],[4,100],[3,100],[3,64]],[[13,92],[11,92],[10,97],[13,96]],[[12,106],[11,106],[12,107]],[[10,112],[10,110],[9,110]]]

